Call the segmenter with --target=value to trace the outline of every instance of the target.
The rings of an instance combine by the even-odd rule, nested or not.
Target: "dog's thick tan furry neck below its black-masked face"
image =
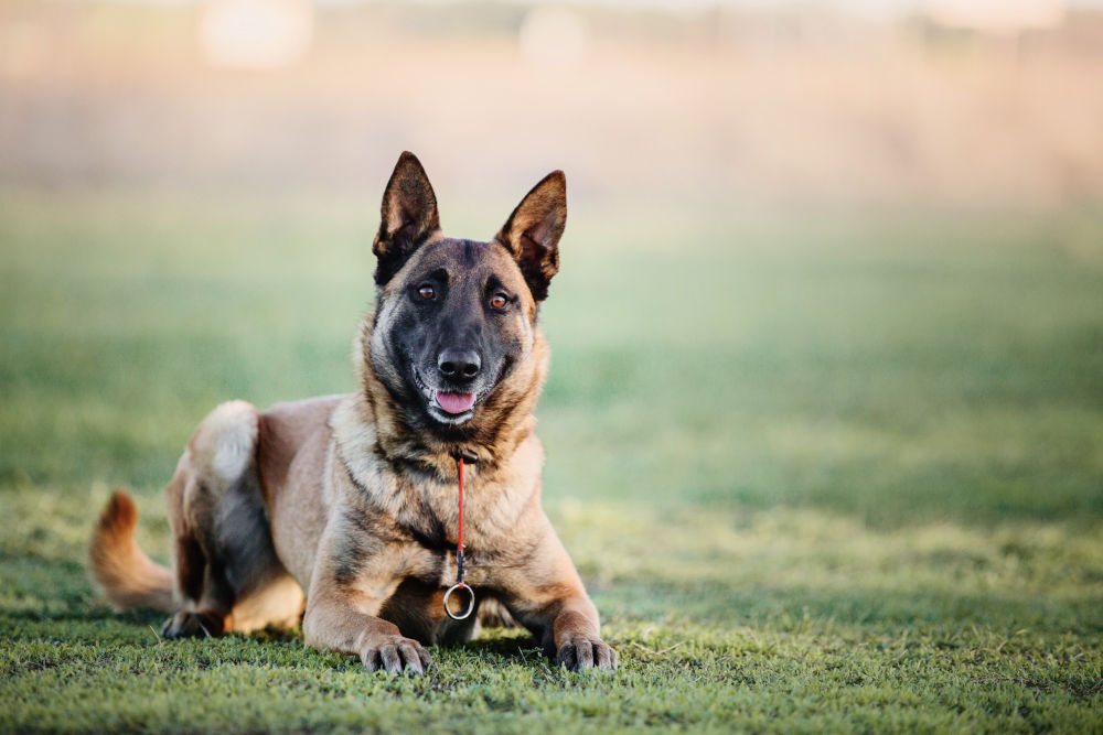
[[[387,389],[372,361],[373,324],[371,314],[361,323],[353,359],[363,398],[363,419],[374,425],[372,451],[379,458],[449,477],[456,473],[456,457],[462,455],[483,475],[507,463],[521,443],[533,434],[536,425],[533,410],[548,366],[547,343],[538,328],[532,352],[495,386],[469,423],[447,431],[429,423],[432,419],[421,417],[420,406],[403,406]]]

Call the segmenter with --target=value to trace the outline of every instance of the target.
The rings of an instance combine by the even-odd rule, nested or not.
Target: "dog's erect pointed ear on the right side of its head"
[[[559,270],[559,238],[567,225],[567,177],[553,171],[533,186],[497,240],[513,253],[536,301],[548,295],[552,277]]]

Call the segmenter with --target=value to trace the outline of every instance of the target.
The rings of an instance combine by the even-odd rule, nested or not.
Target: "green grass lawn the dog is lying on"
[[[440,195],[464,236],[513,204]],[[615,674],[520,631],[405,679],[113,614],[84,571],[113,487],[168,561],[206,411],[353,388],[376,217],[0,196],[0,731],[1103,731],[1099,212],[576,207],[545,505]]]

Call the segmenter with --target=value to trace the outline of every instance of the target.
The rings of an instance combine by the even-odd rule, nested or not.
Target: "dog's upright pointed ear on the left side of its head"
[[[401,269],[414,251],[440,229],[437,195],[417,156],[404,151],[383,193],[383,220],[372,252],[375,282],[383,285]]]

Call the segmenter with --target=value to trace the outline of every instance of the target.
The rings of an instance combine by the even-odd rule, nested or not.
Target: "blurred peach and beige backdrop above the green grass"
[[[1061,0],[7,0],[0,181],[368,199],[408,148],[579,206],[1052,208],[1103,190],[1101,69]]]

